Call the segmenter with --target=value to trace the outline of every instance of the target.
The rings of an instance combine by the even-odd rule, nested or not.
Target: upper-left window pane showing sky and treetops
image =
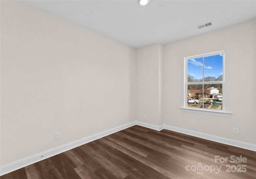
[[[188,82],[202,82],[203,79],[203,58],[187,60]]]

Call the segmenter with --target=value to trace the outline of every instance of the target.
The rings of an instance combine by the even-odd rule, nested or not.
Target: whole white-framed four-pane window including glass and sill
[[[226,115],[224,66],[225,51],[184,58],[182,111]]]

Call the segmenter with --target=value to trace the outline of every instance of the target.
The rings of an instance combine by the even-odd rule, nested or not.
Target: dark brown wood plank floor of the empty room
[[[218,155],[219,157],[216,157]],[[228,157],[226,163],[224,158],[220,157]],[[244,157],[243,161],[240,157]],[[247,159],[246,163],[245,159]],[[165,129],[154,131],[138,125],[1,177],[1,179],[255,178],[256,152]]]

